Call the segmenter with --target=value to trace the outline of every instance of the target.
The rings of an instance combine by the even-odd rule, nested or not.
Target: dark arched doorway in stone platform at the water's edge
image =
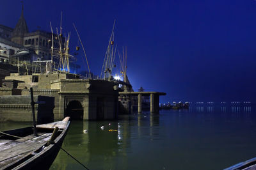
[[[72,100],[68,103],[65,116],[71,120],[83,120],[84,109],[80,102]]]

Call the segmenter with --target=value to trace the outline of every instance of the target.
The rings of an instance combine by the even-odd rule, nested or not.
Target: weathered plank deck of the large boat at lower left
[[[14,162],[24,162],[28,158],[33,157],[33,155],[40,152],[42,153],[44,147],[47,147],[47,142],[49,142],[53,136],[52,133],[54,128],[59,128],[57,132],[58,134],[56,135],[60,135],[61,132],[67,128],[68,119],[69,118],[65,118],[63,121],[36,125],[38,131],[37,136],[30,133],[33,132],[32,127],[22,128],[21,130],[11,130],[12,132],[16,132],[16,135],[22,137],[7,135],[12,134],[11,131],[6,132],[7,134],[0,134],[0,169],[9,167]],[[28,130],[30,130],[29,133]]]

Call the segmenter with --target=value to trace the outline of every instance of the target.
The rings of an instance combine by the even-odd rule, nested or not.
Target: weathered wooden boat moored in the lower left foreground
[[[60,151],[69,117],[43,125],[0,132],[0,169],[49,169]]]

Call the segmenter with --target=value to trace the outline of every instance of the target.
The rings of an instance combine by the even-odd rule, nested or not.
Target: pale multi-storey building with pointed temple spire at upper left
[[[62,36],[61,40],[61,44],[64,47],[65,40]],[[52,45],[55,49],[60,48],[58,35],[42,30],[29,32],[24,18],[23,5],[20,18],[14,29],[0,25],[0,62],[3,62],[4,59],[9,61],[10,57],[20,49],[34,50],[41,60],[49,60],[51,59]]]

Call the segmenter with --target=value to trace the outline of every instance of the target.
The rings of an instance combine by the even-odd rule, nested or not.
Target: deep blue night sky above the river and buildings
[[[20,11],[20,1],[2,0],[0,24],[15,27]],[[76,47],[76,24],[94,74],[116,19],[115,43],[127,46],[134,91],[166,92],[160,102],[256,99],[256,1],[24,1],[29,31],[51,31],[50,21],[56,30],[61,11],[63,31]],[[87,69],[82,58],[80,51]]]

